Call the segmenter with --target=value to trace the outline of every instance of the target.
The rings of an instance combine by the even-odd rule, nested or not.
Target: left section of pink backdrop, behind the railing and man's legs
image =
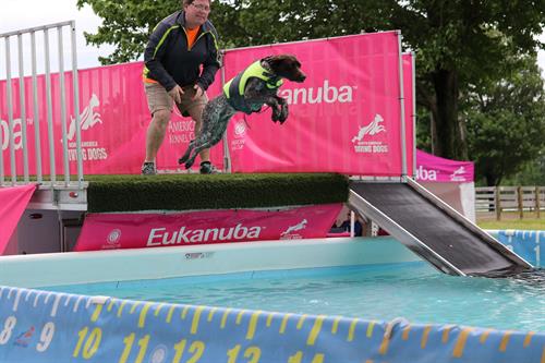
[[[145,156],[145,140],[150,114],[142,83],[142,62],[110,66],[100,66],[78,72],[82,152],[84,173],[86,174],[122,174],[140,173]],[[45,76],[38,77],[38,114],[34,114],[32,78],[25,78],[26,129],[28,137],[29,170],[36,173],[35,128],[39,122],[40,152],[43,172],[49,174],[49,145],[47,124],[47,98]],[[66,133],[69,143],[70,170],[76,173],[76,136],[75,113],[73,108],[72,73],[65,73],[66,86]],[[62,118],[60,102],[59,74],[51,80],[53,120],[53,141],[56,172],[63,173],[62,153]],[[23,173],[23,128],[19,97],[19,80],[12,82],[14,148],[16,171]],[[215,82],[208,89],[208,96],[219,93],[220,82]],[[7,82],[0,82],[0,134],[9,134],[9,116],[7,106]],[[169,123],[165,142],[157,157],[159,172],[171,172],[180,169],[178,158],[185,152],[194,135],[194,122],[184,118],[174,109]],[[5,173],[11,176],[10,143],[2,137],[2,155]],[[221,143],[211,150],[211,160],[222,168],[223,153]],[[196,167],[195,167],[196,168]]]

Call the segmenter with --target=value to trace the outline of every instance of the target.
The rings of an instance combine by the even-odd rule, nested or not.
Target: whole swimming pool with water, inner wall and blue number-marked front
[[[0,361],[36,354],[40,362],[120,363],[545,358],[545,334],[535,332],[543,331],[543,305],[529,298],[533,305],[525,306],[522,299],[543,289],[444,276],[391,239],[16,256],[0,271],[4,281],[19,277],[27,287],[63,291],[0,289]],[[144,276],[167,279],[140,281]],[[90,283],[68,286],[77,281]],[[177,299],[184,304],[161,302]],[[473,315],[501,318],[474,328]]]

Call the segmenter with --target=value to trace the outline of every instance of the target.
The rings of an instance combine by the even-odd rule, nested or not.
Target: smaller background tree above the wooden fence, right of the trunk
[[[536,59],[507,62],[513,70],[468,94],[462,111],[476,177],[491,186],[543,159],[545,150],[545,90]]]

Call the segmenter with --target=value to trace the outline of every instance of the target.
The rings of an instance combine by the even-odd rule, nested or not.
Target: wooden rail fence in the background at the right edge
[[[541,218],[545,210],[545,186],[480,186],[475,187],[475,213],[495,215],[501,219],[502,213],[516,213],[524,218],[524,213],[533,213]]]

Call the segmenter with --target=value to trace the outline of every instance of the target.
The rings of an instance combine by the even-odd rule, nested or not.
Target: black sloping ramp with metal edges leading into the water
[[[415,181],[353,181],[350,206],[449,275],[505,277],[532,265]]]

